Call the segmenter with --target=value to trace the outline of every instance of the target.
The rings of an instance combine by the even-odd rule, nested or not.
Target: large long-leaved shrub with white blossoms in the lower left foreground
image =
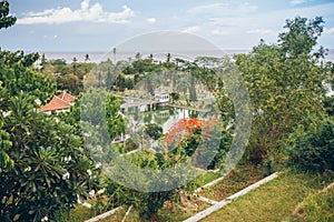
[[[97,171],[75,129],[36,111],[33,98],[9,98],[3,131],[13,168],[0,172],[1,221],[40,221],[69,210],[96,189]],[[88,173],[90,169],[91,173]]]

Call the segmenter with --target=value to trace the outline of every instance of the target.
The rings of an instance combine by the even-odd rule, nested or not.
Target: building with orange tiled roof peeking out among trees
[[[63,91],[62,93],[55,95],[48,104],[40,107],[39,110],[48,114],[68,112],[71,105],[75,104],[75,100],[76,98],[73,95]]]

